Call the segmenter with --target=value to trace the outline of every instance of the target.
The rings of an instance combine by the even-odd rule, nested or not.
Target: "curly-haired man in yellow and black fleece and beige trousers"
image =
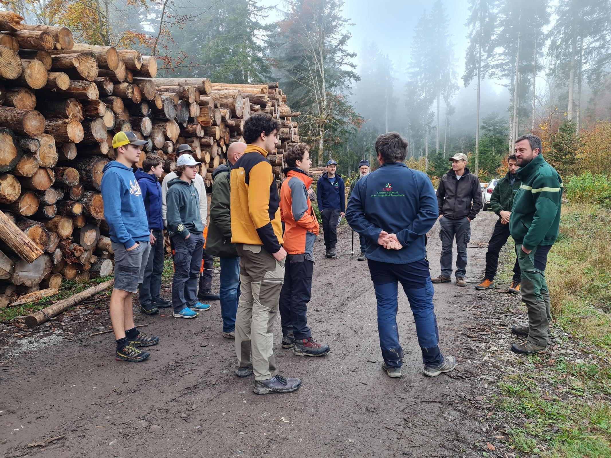
[[[272,328],[284,283],[280,199],[266,159],[278,143],[280,123],[257,113],[244,123],[248,144],[231,170],[232,243],[240,256],[240,301],[235,318],[236,376],[255,374],[257,394],[290,393],[300,379],[282,377],[276,369]]]

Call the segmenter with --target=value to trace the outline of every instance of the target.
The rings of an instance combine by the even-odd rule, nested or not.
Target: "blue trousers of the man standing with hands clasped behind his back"
[[[368,260],[368,266],[378,301],[378,333],[386,365],[397,368],[403,365],[403,349],[399,344],[397,328],[398,283],[403,286],[414,314],[422,362],[427,365],[441,363],[443,356],[437,347],[439,330],[428,261],[423,259],[409,264],[390,264]]]

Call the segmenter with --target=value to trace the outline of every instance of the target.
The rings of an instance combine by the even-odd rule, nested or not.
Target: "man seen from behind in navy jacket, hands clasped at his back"
[[[376,140],[380,167],[360,178],[346,210],[350,226],[367,240],[367,261],[378,301],[378,332],[390,377],[401,377],[403,349],[397,330],[401,283],[414,314],[423,373],[434,377],[456,367],[437,346],[439,331],[425,238],[437,220],[437,197],[425,173],[403,163],[408,142],[396,132]]]

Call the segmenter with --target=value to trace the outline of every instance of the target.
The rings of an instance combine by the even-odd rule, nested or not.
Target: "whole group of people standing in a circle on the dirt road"
[[[214,170],[209,227],[205,187],[197,173],[201,164],[188,145],[180,145],[177,167],[160,185],[161,159],[147,156],[134,175],[132,167],[139,162],[144,142],[131,133],[115,135],[117,159],[106,165],[101,186],[115,252],[110,313],[117,360],[145,360],[149,354],[141,347],[159,343],[157,336],[136,329],[131,293],[139,289],[144,313],[172,306],[177,318],[195,318],[199,311],[210,309],[202,301],[220,299],[222,335],[235,339],[236,376],[254,374],[257,394],[297,390],[301,379],[279,374],[272,330],[279,312],[283,348],[310,357],[329,352],[329,346],[312,338],[307,322],[313,245],[320,231],[311,203],[316,198],[328,258],[336,255],[342,217],[359,234],[359,261],[368,261],[378,304],[386,373],[400,377],[403,364],[396,318],[398,283],[414,314],[423,373],[434,377],[454,369],[456,358],[444,356],[438,345],[433,283],[451,282],[456,239],[456,284],[466,286],[470,222],[481,209],[480,183],[466,169],[467,156],[450,158],[452,170],[435,191],[425,173],[404,164],[406,140],[397,133],[382,134],[375,144],[379,167],[370,172],[368,161],[360,162],[346,208],[344,182],[335,161],[327,162],[327,172],[319,178],[313,196],[308,175],[312,161],[305,144],[293,145],[285,153],[286,178],[277,189],[266,156],[276,148],[279,130],[279,122],[268,114],[246,120],[246,143],[231,144],[227,164]],[[494,285],[499,250],[511,234],[518,253],[511,289],[521,291],[529,308],[529,325],[512,330],[527,340],[511,349],[544,352],[551,319],[544,269],[558,234],[562,180],[544,161],[538,137],[520,137],[509,161],[510,171],[492,195],[491,206],[500,219],[486,255],[486,278],[476,288]],[[515,173],[518,166],[521,169]],[[437,219],[442,273],[431,280],[426,234]],[[164,227],[174,254],[171,303],[160,296]],[[219,295],[210,289],[213,256],[219,256],[221,263]]]

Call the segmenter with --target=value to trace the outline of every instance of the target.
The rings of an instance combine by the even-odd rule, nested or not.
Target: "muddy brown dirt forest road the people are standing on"
[[[477,242],[488,242],[495,220],[486,212],[472,223],[469,286],[435,286],[440,346],[458,358],[449,376],[422,375],[414,321],[402,293],[397,318],[403,377],[390,379],[382,371],[367,263],[349,255],[351,232],[342,226],[337,259],[324,258],[322,240],[316,242],[309,305],[310,327],[331,346],[329,355],[296,357],[280,347],[279,319],[274,326],[280,373],[301,377],[300,390],[257,396],[252,377],[233,374],[234,344],[221,337],[218,302],[194,320],[136,311],[136,324],[147,324],[145,332],[159,335],[161,343],[150,347],[144,363],[117,362],[112,334],[89,337],[108,329],[103,298],[101,313],[90,312],[93,321],[86,326],[66,318],[59,332],[34,333],[9,346],[1,341],[0,456],[481,456],[473,449],[481,424],[469,402],[480,375],[478,355],[463,326],[474,322],[467,309],[477,303],[473,286],[485,266],[486,250]],[[355,241],[357,247],[357,236]],[[428,250],[436,276],[439,224]],[[214,285],[218,288],[218,272]],[[165,285],[163,295],[169,292]],[[27,447],[62,435],[50,445]]]

